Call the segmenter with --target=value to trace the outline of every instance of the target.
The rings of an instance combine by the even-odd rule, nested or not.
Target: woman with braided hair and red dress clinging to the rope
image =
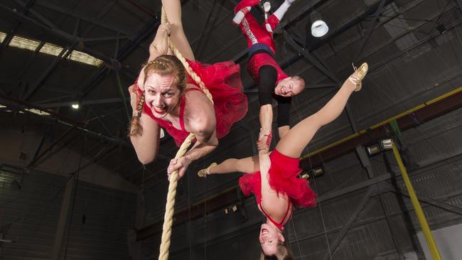
[[[218,139],[230,131],[247,112],[247,96],[242,93],[240,66],[232,61],[205,65],[195,61],[183,32],[181,3],[163,0],[169,23],[159,26],[149,47],[149,60],[134,85],[129,87],[133,117],[129,136],[141,163],[149,163],[159,151],[160,128],[165,129],[177,146],[189,133],[196,142],[183,157],[173,159],[168,174],[178,175],[198,158],[213,151]],[[186,73],[181,61],[168,48],[168,37],[187,59],[213,96],[213,103]]]

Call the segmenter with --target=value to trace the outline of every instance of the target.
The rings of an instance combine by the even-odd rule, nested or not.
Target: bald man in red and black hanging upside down
[[[272,98],[278,102],[277,124],[279,137],[282,137],[289,131],[291,97],[302,92],[305,87],[305,81],[301,77],[289,77],[274,59],[276,46],[272,32],[294,1],[285,0],[269,18],[269,2],[264,3],[265,21],[260,25],[250,13],[252,6],[259,4],[259,0],[242,0],[235,6],[236,15],[232,20],[233,23],[239,24],[247,40],[247,70],[258,85],[259,120],[262,129],[269,129],[269,133],[262,138],[266,143],[270,143],[272,139]]]

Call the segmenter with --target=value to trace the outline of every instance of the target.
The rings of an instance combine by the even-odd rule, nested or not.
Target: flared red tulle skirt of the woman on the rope
[[[247,95],[242,93],[240,66],[233,61],[213,65],[198,61],[188,63],[212,94],[217,119],[217,138],[220,139],[230,132],[235,122],[247,114]],[[190,77],[188,83],[198,86]]]

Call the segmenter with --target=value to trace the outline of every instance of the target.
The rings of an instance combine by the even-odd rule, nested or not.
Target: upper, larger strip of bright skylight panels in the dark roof
[[[0,43],[3,43],[5,38],[6,38],[6,33],[0,31]],[[13,36],[9,45],[15,48],[36,51],[38,48],[38,45],[40,45],[40,41],[23,38],[21,36]],[[45,53],[45,54],[53,55],[53,56],[58,56],[62,51],[63,51],[62,47],[58,45],[54,45],[53,43],[45,43],[42,46],[42,48],[38,50],[39,53]],[[92,65],[95,67],[102,64],[102,60],[97,59],[91,55],[88,55],[87,53],[82,53],[78,50],[72,50],[72,53],[70,53],[70,55],[68,56],[68,59],[77,61],[78,63],[85,63],[87,65]]]

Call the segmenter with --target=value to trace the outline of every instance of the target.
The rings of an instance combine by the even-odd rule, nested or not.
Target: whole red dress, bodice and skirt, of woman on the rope
[[[217,138],[220,139],[230,132],[230,128],[235,122],[242,119],[247,113],[247,96],[242,93],[242,81],[240,78],[240,66],[232,61],[215,63],[213,65],[202,64],[198,61],[188,60],[190,67],[202,79],[205,87],[213,96],[213,107],[215,109],[215,117],[217,119]],[[188,88],[185,92],[200,90],[198,84],[188,76],[188,84],[193,84],[197,88]],[[135,83],[136,84],[136,83]],[[138,97],[142,93],[138,89]],[[181,129],[176,129],[169,121],[154,117],[151,108],[144,103],[143,113],[148,114],[159,126],[165,129],[170,136],[173,137],[177,146],[188,137],[188,131],[184,127],[184,108],[186,102],[194,102],[186,100],[185,95],[181,98],[180,104],[180,125]]]

